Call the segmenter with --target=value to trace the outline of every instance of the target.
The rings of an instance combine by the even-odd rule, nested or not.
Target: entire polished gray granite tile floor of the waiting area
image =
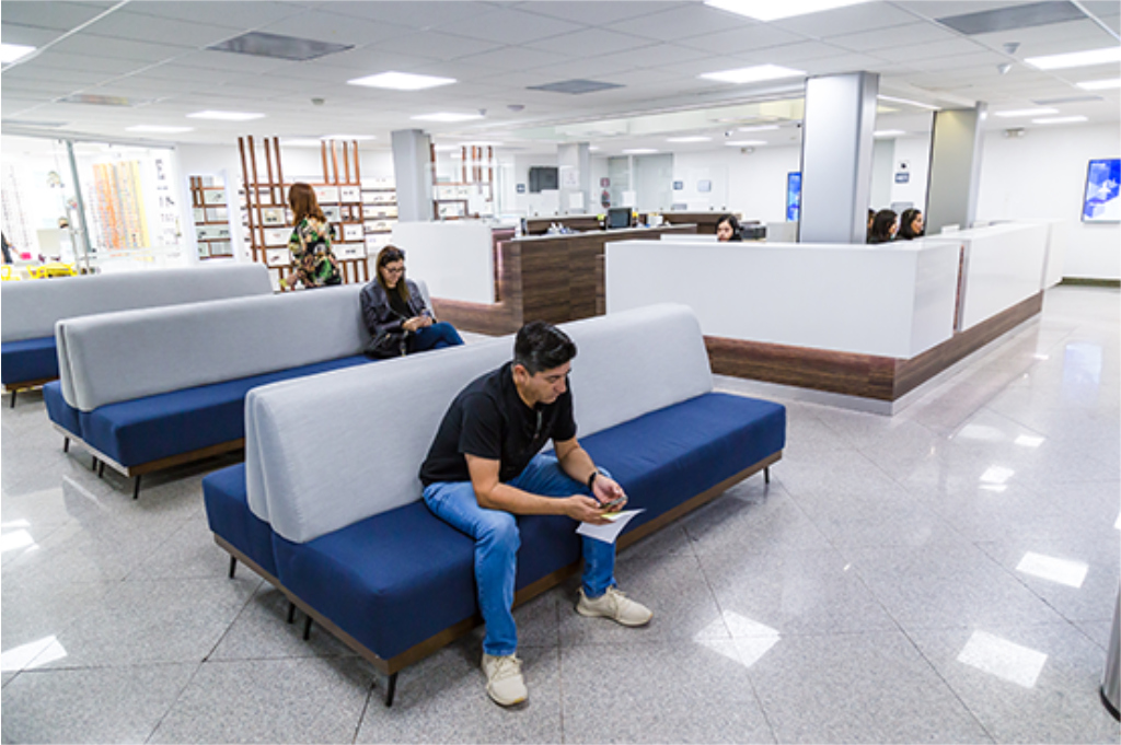
[[[365,662],[226,578],[200,490],[223,464],[133,502],[62,453],[40,398],[4,399],[3,742],[1117,743],[1119,298],[1049,291],[892,418],[789,402],[769,486],[620,557],[649,627],[577,616],[573,584],[517,612],[513,710],[478,633],[386,709]]]

